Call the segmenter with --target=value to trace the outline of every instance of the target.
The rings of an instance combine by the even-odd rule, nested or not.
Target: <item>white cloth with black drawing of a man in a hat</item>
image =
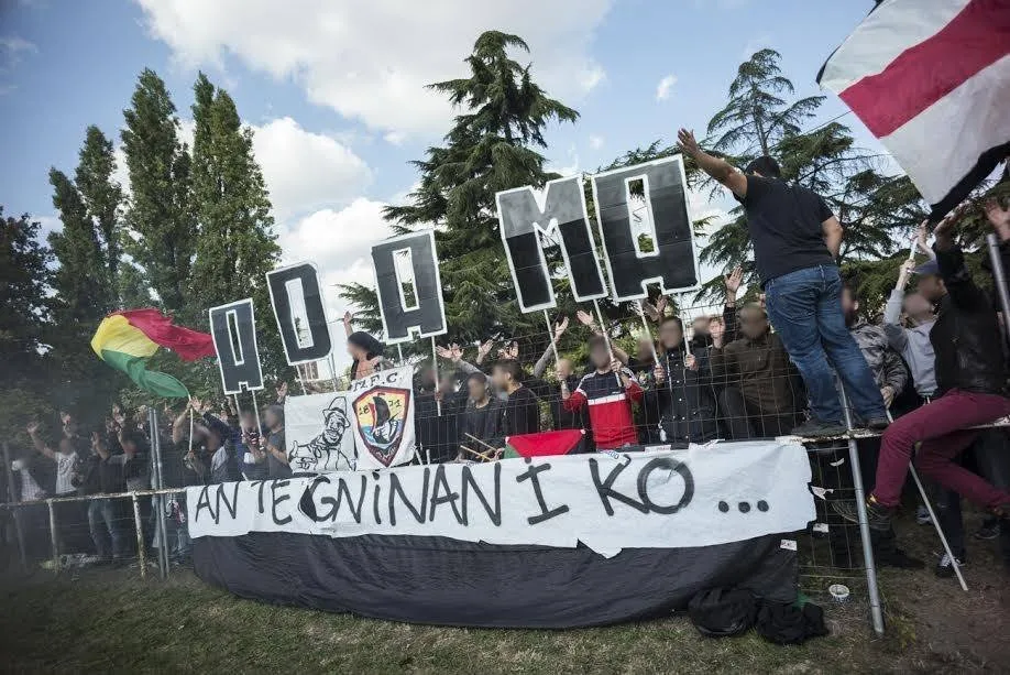
[[[356,468],[350,398],[349,392],[328,392],[285,400],[287,453],[293,471],[321,473]]]

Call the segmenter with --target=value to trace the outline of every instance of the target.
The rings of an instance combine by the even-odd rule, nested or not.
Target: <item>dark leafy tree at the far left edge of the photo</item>
[[[26,420],[55,418],[43,351],[50,329],[52,253],[40,241],[40,225],[28,215],[3,216],[0,206],[0,428],[12,449],[31,447]]]

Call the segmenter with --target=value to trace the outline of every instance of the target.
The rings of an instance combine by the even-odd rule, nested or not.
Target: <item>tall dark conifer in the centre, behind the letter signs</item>
[[[547,146],[544,129],[552,121],[573,122],[579,113],[549,98],[533,81],[530,66],[509,58],[509,50],[529,47],[517,35],[487,31],[465,59],[469,77],[429,85],[461,112],[444,145],[429,148],[426,159],[414,162],[421,175],[411,203],[386,207],[384,214],[398,231],[438,228],[450,339],[542,333],[538,316],[518,311],[494,196],[558,177],[544,170],[546,160],[537,152]],[[352,284],[341,295],[374,322],[374,292]]]

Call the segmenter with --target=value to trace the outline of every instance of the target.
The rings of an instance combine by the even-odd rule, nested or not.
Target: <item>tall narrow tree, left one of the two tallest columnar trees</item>
[[[179,142],[179,120],[165,83],[144,69],[123,110],[123,152],[130,175],[125,252],[144,270],[162,308],[183,320],[187,312],[189,272],[196,252],[190,157]]]

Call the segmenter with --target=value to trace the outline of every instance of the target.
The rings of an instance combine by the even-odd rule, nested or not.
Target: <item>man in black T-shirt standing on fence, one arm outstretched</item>
[[[880,390],[842,315],[842,279],[835,263],[842,226],[831,208],[815,193],[786,183],[770,156],[758,157],[739,173],[701,150],[690,131],[681,129],[678,139],[681,152],[744,205],[768,315],[810,395],[812,417],[793,433],[845,433],[832,367],[861,422],[875,431],[887,427]]]

